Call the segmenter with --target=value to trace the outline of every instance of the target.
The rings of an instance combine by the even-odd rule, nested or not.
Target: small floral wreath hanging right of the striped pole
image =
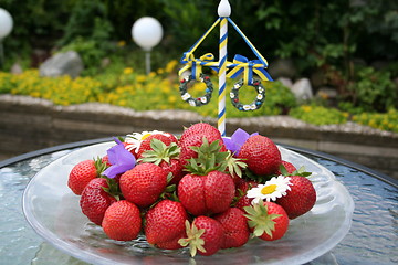
[[[231,93],[230,93],[232,105],[242,112],[259,109],[265,100],[265,89],[261,85],[261,81],[253,78],[252,82],[250,83],[250,86],[254,86],[258,95],[256,95],[255,99],[249,105],[243,105],[239,100],[239,89],[242,86],[243,86],[243,80],[239,81],[238,83],[235,83],[233,85],[233,88],[231,89]]]

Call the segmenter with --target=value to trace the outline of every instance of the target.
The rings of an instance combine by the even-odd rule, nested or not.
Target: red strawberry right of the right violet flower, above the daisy
[[[245,159],[248,168],[255,174],[275,173],[282,162],[276,145],[265,136],[251,136],[241,147],[238,158]]]

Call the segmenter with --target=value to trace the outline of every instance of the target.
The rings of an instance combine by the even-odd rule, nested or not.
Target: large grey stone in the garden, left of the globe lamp
[[[83,61],[78,53],[74,51],[56,53],[40,65],[41,76],[62,76],[70,75],[77,77],[83,71]]]

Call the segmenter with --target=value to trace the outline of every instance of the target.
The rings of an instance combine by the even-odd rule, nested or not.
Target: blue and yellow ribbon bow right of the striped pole
[[[227,77],[237,78],[243,72],[243,84],[252,85],[254,72],[262,81],[273,81],[265,71],[266,66],[268,65],[260,60],[249,61],[245,56],[237,54],[233,59],[233,64],[228,65],[228,67],[233,68],[227,74]]]

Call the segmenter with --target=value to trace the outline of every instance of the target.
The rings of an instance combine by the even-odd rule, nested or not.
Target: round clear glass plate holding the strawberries
[[[117,242],[106,237],[81,212],[80,197],[67,188],[69,172],[78,161],[102,157],[114,142],[82,148],[43,168],[23,193],[23,212],[35,232],[55,247],[93,264],[303,264],[331,251],[347,234],[354,201],[347,189],[323,166],[280,147],[283,160],[313,172],[317,200],[306,214],[293,220],[284,237],[274,242],[250,240],[244,246],[219,251],[210,257],[187,250],[161,251],[143,237]]]

